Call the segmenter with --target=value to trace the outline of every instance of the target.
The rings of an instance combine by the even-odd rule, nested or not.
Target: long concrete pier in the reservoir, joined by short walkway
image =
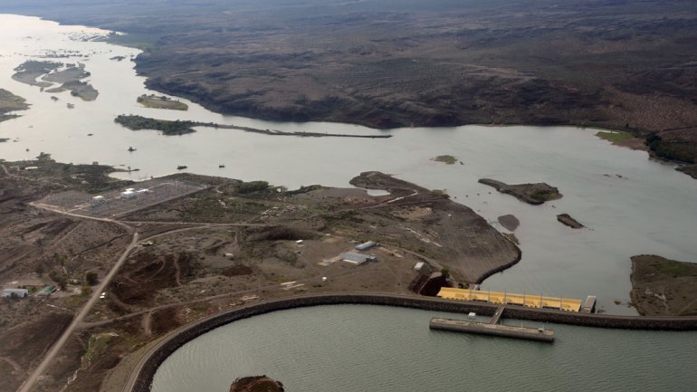
[[[553,330],[499,324],[503,311],[505,311],[505,306],[501,305],[493,313],[492,320],[489,322],[433,318],[428,323],[428,328],[432,330],[454,330],[506,338],[538,340],[549,343],[554,341]]]

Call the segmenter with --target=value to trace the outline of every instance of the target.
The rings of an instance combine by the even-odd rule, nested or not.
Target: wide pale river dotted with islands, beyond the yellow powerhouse
[[[428,188],[446,189],[501,231],[499,215],[519,217],[515,234],[522,260],[492,276],[485,289],[584,299],[598,296],[603,311],[635,314],[628,306],[629,257],[654,253],[697,261],[697,181],[645,152],[618,148],[594,136],[594,129],[570,127],[463,126],[380,131],[349,124],[269,122],[224,116],[189,105],[186,112],[141,107],[148,91],[129,59],[139,52],[92,40],[107,32],[62,26],[38,18],[0,15],[0,87],[24,97],[31,108],[0,123],[0,158],[34,158],[40,152],[62,162],[139,168],[115,176],[134,180],[177,172],[263,179],[291,188],[322,184],[348,186],[364,170],[380,170]],[[70,52],[69,52],[70,51]],[[69,57],[44,58],[62,53]],[[110,60],[126,57],[119,62]],[[11,79],[26,60],[81,62],[100,91],[86,102],[67,92],[51,94]],[[59,100],[54,101],[55,95]],[[66,104],[74,104],[68,109]],[[166,120],[197,120],[258,129],[329,133],[387,133],[390,139],[297,138],[234,129],[199,129],[177,137],[131,131],[114,123],[119,114]],[[91,134],[92,136],[88,136]],[[129,147],[136,151],[129,152]],[[450,154],[462,164],[432,158]],[[219,167],[224,164],[225,167]],[[477,183],[492,177],[508,183],[547,182],[564,195],[544,206],[529,206]],[[556,215],[568,213],[587,229],[572,230]]]

